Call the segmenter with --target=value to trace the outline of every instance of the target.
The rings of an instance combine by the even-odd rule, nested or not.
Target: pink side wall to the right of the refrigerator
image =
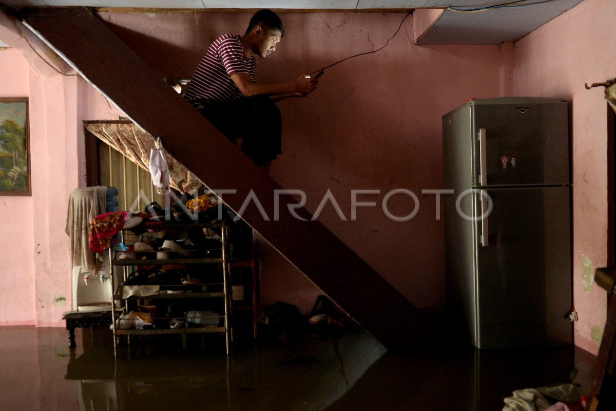
[[[573,147],[575,343],[591,352],[606,322],[606,292],[591,285],[607,261],[607,116],[603,89],[616,76],[616,2],[586,0],[516,43],[514,94],[570,100]],[[611,138],[611,137],[610,137]]]

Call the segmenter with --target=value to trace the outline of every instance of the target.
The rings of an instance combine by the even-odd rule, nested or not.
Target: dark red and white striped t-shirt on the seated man
[[[235,86],[231,75],[248,73],[255,81],[254,56],[249,59],[241,47],[241,37],[230,33],[214,40],[195,69],[184,98],[197,110],[203,108],[203,101],[225,102],[244,97]]]

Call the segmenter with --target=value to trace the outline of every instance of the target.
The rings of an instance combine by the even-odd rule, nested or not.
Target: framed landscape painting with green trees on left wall
[[[28,99],[0,99],[0,195],[31,195]]]

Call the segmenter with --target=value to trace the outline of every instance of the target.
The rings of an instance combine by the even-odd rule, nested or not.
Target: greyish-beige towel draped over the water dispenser
[[[70,237],[71,261],[73,267],[81,266],[84,271],[96,271],[96,254],[90,250],[88,226],[92,219],[105,213],[107,187],[85,187],[75,189],[68,200],[67,226]]]

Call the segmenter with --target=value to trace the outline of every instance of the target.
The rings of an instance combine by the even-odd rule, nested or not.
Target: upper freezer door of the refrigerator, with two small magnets
[[[473,185],[569,184],[567,103],[470,106]]]

